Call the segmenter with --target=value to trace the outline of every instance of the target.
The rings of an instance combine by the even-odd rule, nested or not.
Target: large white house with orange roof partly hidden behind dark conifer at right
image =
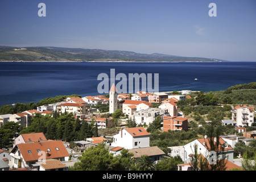
[[[217,138],[212,138],[213,144],[216,145]],[[195,153],[195,146],[197,146],[197,153],[204,155],[204,157],[209,158],[210,154],[212,152],[220,152],[220,155],[218,156],[219,159],[222,159],[222,154],[225,155],[226,159],[228,159],[230,162],[233,162],[233,152],[234,149],[225,142],[224,139],[219,137],[219,146],[218,151],[212,151],[210,148],[210,139],[205,136],[205,138],[200,138],[193,140],[192,142],[184,145],[184,156],[180,156],[181,159],[185,163],[191,162],[191,155]],[[221,150],[221,145],[224,146],[224,150]]]

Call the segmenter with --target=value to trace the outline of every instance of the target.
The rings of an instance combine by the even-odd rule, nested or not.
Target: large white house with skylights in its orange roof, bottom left
[[[69,154],[61,140],[47,140],[34,143],[19,143],[11,150],[11,167],[31,168],[37,162],[47,159],[67,161]]]

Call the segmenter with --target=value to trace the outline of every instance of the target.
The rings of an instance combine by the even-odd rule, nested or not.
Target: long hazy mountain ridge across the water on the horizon
[[[225,61],[204,57],[183,57],[160,53],[136,53],[131,51],[108,51],[104,49],[82,49],[63,47],[5,47],[0,46],[0,61],[167,61],[167,62],[217,62]]]

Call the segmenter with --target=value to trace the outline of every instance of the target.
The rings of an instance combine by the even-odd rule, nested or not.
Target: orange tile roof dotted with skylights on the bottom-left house
[[[20,154],[22,154],[24,161],[38,160],[42,156],[38,155],[38,151],[48,152],[50,155],[46,155],[46,159],[58,159],[69,156],[67,149],[65,148],[61,140],[48,140],[46,142],[35,143],[20,143],[17,144]],[[51,151],[47,151],[47,149]],[[31,151],[29,153],[28,151]]]

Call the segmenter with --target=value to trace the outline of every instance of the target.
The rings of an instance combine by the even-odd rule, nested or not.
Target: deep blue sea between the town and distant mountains
[[[110,77],[110,69],[115,69],[115,75],[125,73],[127,77],[129,73],[159,73],[159,92],[209,92],[256,81],[256,62],[0,63],[0,106],[59,95],[96,96],[101,82],[98,75],[106,73]]]

